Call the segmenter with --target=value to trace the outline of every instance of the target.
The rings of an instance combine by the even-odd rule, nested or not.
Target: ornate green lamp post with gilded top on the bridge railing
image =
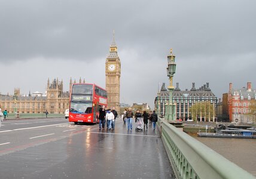
[[[167,56],[167,76],[169,76],[170,85],[167,87],[169,90],[169,104],[168,104],[168,112],[166,115],[167,121],[176,121],[175,113],[176,113],[176,106],[172,103],[172,93],[174,87],[172,85],[172,78],[176,71],[176,63],[175,63],[175,55],[172,54],[172,48],[170,49],[170,54]]]

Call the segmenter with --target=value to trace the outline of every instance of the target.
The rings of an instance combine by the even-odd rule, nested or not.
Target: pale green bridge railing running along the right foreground
[[[166,120],[158,127],[176,178],[255,178]]]

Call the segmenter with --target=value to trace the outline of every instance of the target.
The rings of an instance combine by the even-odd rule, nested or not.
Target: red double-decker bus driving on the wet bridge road
[[[73,84],[69,100],[69,122],[97,123],[99,107],[107,106],[106,90],[95,84]]]

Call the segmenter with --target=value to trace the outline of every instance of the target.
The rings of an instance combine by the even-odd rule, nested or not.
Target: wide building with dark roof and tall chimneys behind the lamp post
[[[190,91],[187,89],[185,91],[181,91],[179,89],[179,83],[176,83],[176,88],[173,91],[172,101],[172,103],[176,105],[176,119],[181,119],[182,121],[191,119],[190,107],[193,106],[193,104],[208,101],[214,106],[214,117],[212,121],[215,121],[215,113],[218,100],[214,93],[211,91],[211,88],[209,88],[209,83],[206,83],[206,85],[203,85],[199,89],[196,89],[195,83],[193,83]],[[169,91],[166,90],[165,84],[163,84],[158,96],[155,98],[155,109],[158,110],[160,115],[165,116],[167,113],[168,104]],[[198,120],[204,121],[205,119],[200,116]]]

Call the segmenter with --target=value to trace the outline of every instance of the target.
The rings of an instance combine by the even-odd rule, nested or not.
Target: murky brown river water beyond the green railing
[[[256,139],[191,136],[256,177]]]

